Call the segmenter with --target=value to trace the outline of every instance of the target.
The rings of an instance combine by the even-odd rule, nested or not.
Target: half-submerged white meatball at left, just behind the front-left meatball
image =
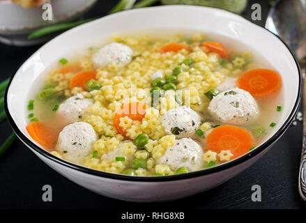
[[[93,105],[93,100],[77,94],[59,105],[57,114],[63,118],[64,123],[74,123],[82,118],[91,105]]]

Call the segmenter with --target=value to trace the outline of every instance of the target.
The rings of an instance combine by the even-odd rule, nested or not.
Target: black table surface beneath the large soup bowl
[[[288,1],[288,0],[287,0]],[[114,6],[113,0],[100,0],[88,17],[105,15]],[[267,1],[261,3],[263,25],[268,13]],[[250,18],[251,6],[245,17]],[[39,46],[38,46],[39,47]],[[0,44],[0,80],[6,79],[38,49],[9,47]],[[0,142],[10,134],[6,121],[0,124]],[[130,203],[102,197],[63,178],[40,161],[26,146],[17,141],[0,157],[0,208],[100,208],[121,210],[155,210],[155,208],[305,208],[298,195],[298,164],[300,160],[302,125],[291,126],[282,139],[256,164],[242,174],[213,190],[194,197],[166,203]],[[52,185],[53,201],[43,202],[43,185]],[[260,185],[262,201],[251,199],[252,185]]]

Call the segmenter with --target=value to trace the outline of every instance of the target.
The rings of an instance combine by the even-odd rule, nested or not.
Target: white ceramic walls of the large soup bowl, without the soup
[[[189,29],[234,39],[261,52],[284,83],[284,107],[273,135],[250,153],[217,167],[188,174],[132,177],[95,171],[60,160],[44,151],[26,132],[26,105],[33,82],[50,64],[78,47],[104,41],[113,33],[150,29]],[[71,41],[73,40],[73,41]],[[77,45],[75,45],[77,43]],[[225,43],[226,44],[226,43]],[[229,180],[250,167],[275,144],[293,120],[301,95],[301,73],[288,47],[270,31],[226,10],[199,6],[161,6],[103,17],[63,33],[41,47],[17,71],[6,92],[6,112],[17,136],[43,162],[93,192],[126,201],[167,201],[190,196]]]

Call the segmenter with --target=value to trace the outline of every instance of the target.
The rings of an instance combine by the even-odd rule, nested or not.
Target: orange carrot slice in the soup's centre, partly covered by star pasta
[[[130,102],[121,105],[114,116],[114,125],[118,132],[126,136],[126,131],[119,126],[120,118],[128,116],[132,121],[141,121],[146,115],[146,109],[148,108],[150,108],[148,105],[141,102]]]

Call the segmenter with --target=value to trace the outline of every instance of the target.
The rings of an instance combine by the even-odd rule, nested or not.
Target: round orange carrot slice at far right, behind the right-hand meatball
[[[270,95],[282,86],[282,77],[274,70],[254,69],[245,72],[237,81],[238,88],[254,97]]]

